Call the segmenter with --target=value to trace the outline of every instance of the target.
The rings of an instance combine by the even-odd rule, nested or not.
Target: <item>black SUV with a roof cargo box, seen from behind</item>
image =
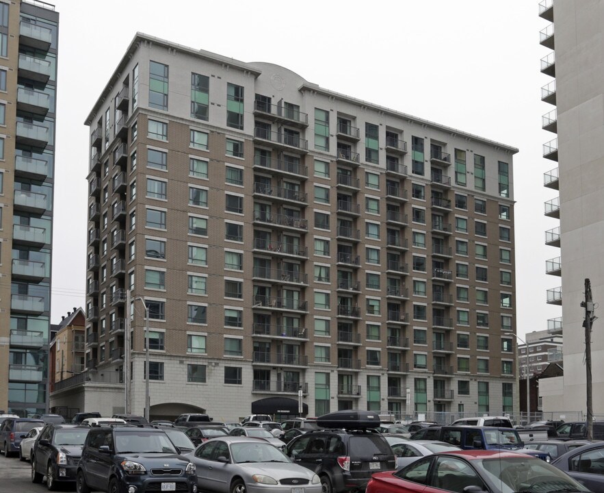
[[[334,416],[332,413],[329,416]],[[330,420],[330,428],[309,430],[287,444],[285,453],[295,464],[313,470],[324,493],[364,491],[374,472],[395,470],[395,457],[386,438],[353,421]],[[343,429],[345,428],[345,429]]]

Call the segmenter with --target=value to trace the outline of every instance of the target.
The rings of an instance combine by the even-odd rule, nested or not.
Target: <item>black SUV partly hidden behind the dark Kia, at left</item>
[[[41,483],[46,476],[50,491],[73,483],[88,431],[83,425],[46,425],[31,448],[31,482]]]

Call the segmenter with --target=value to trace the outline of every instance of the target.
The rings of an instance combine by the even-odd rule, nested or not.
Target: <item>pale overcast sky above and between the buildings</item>
[[[518,335],[547,328],[560,255],[542,186],[555,162],[541,129],[551,77],[537,0],[49,0],[60,12],[52,322],[86,303],[88,127],[83,122],[137,31],[243,62],[271,62],[319,86],[520,149],[514,156]]]

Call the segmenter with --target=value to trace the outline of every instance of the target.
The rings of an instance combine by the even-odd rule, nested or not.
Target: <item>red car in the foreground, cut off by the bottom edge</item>
[[[367,493],[589,492],[560,472],[516,452],[453,451],[428,455],[398,471],[377,472]]]

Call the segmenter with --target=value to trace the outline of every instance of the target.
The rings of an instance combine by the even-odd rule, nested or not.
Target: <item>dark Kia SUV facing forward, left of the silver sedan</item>
[[[158,428],[92,428],[77,468],[77,493],[197,493],[195,464],[179,453]]]

